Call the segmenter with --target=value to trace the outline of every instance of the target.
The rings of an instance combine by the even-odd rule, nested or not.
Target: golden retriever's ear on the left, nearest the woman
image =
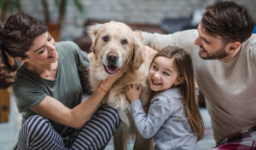
[[[89,26],[87,28],[87,31],[88,31],[88,34],[89,34],[89,37],[91,39],[91,46],[90,46],[90,49],[93,53],[95,53],[95,45],[96,45],[96,41],[97,41],[97,38],[98,38],[98,31],[100,29],[100,27],[102,26],[102,24],[96,24],[94,26]]]

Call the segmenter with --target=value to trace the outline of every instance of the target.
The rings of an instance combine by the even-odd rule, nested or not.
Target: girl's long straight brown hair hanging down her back
[[[183,106],[186,116],[189,119],[191,129],[197,136],[197,141],[199,141],[203,137],[205,128],[199,107],[195,101],[195,82],[191,56],[184,49],[176,46],[168,46],[161,49],[154,55],[152,62],[159,56],[172,58],[177,68],[178,78],[183,78],[183,83],[179,84],[177,87],[181,90],[183,95]]]

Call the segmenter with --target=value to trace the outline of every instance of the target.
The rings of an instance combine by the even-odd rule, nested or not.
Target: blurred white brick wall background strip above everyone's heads
[[[57,26],[58,40],[75,40],[84,27],[119,20],[148,32],[176,32],[196,26],[205,6],[219,0],[0,0],[0,20],[23,11]],[[255,0],[235,0],[250,9],[256,20]],[[173,24],[173,25],[172,25]],[[175,26],[177,24],[177,26]],[[168,27],[171,26],[171,27]],[[174,28],[173,28],[174,27]],[[54,27],[53,27],[54,28]]]

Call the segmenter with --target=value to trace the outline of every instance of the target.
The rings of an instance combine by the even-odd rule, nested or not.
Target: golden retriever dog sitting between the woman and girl
[[[129,26],[121,22],[110,21],[90,26],[89,34],[93,52],[90,60],[90,83],[93,90],[101,84],[102,80],[118,72],[120,67],[127,66],[129,70],[113,84],[104,100],[118,110],[123,121],[113,136],[114,148],[126,149],[127,142],[136,136],[134,149],[154,149],[153,140],[143,139],[126,110],[129,100],[125,96],[124,87],[128,84],[142,84],[143,92],[140,99],[143,105],[149,106],[148,70],[156,52],[153,49],[143,49],[142,40],[137,38]]]

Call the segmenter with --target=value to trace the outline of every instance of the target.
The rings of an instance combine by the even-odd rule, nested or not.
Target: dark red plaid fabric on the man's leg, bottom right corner
[[[256,150],[256,126],[241,130],[223,141],[220,141],[212,150]]]

